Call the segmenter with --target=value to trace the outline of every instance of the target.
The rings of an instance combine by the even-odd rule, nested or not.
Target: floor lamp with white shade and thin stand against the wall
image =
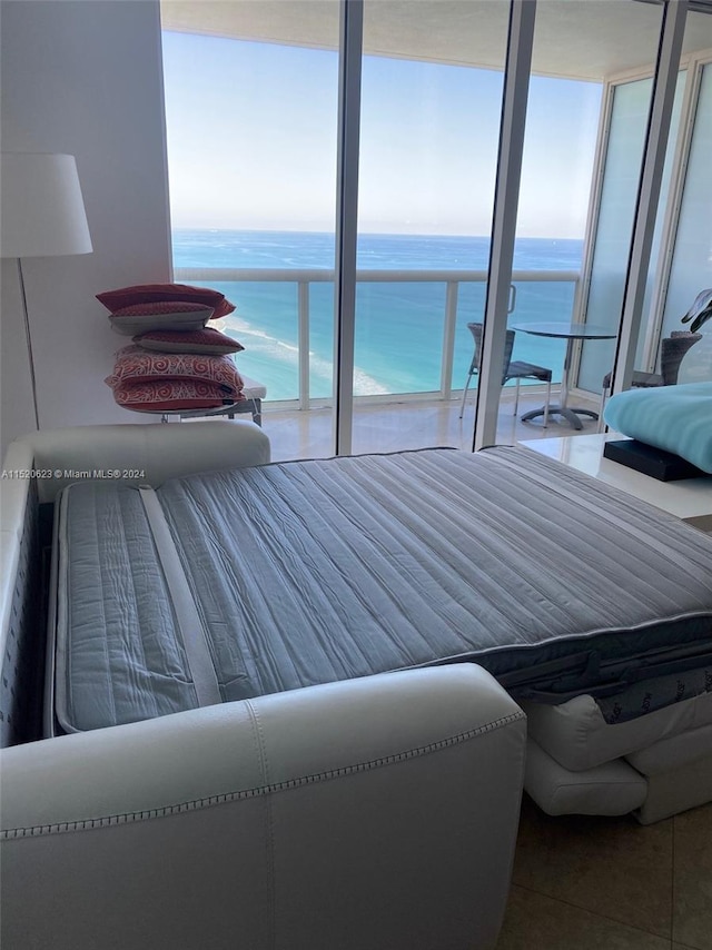
[[[32,334],[24,293],[22,258],[89,254],[91,238],[71,155],[0,154],[0,256],[18,261],[34,424],[37,405]]]

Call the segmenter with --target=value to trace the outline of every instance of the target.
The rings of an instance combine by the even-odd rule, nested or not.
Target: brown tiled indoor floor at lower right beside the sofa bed
[[[712,804],[643,827],[525,796],[497,950],[712,950]]]

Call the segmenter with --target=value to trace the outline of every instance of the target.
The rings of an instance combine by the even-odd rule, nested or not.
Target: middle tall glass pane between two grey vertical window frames
[[[442,416],[412,404],[384,425],[362,396],[449,396],[482,320],[502,110],[507,4],[367,0],[362,61],[353,447],[448,444]],[[479,46],[490,68],[447,50]],[[388,55],[372,55],[370,50]],[[472,413],[465,426],[472,429]],[[453,425],[459,426],[457,420]]]

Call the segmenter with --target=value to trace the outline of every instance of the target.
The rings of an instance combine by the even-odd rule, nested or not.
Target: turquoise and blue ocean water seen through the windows
[[[177,268],[278,268],[332,270],[334,236],[301,231],[176,229]],[[485,270],[488,238],[428,235],[362,235],[357,266],[369,270]],[[580,270],[583,241],[522,238],[515,269]],[[267,386],[268,399],[298,395],[297,285],[291,281],[198,281],[236,305],[220,328],[245,350],[237,367]],[[445,281],[360,283],[356,295],[356,395],[439,390],[445,320]],[[520,283],[510,323],[571,318],[573,283]],[[473,353],[466,324],[482,319],[484,283],[459,285],[453,387],[465,380]],[[309,285],[309,387],[332,395],[334,285]],[[550,366],[561,378],[565,344],[518,333],[514,358]]]

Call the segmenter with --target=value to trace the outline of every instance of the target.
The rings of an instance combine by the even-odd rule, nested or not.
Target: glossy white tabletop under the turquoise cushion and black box
[[[683,478],[679,482],[660,482],[604,458],[603,443],[623,437],[616,433],[574,435],[565,438],[532,439],[521,442],[520,445],[607,482],[609,485],[656,505],[702,531],[712,531],[712,475],[704,478]]]

